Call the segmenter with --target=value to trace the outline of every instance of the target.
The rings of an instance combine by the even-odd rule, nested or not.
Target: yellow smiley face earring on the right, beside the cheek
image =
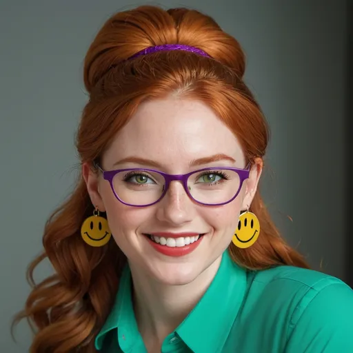
[[[244,212],[239,216],[238,228],[236,228],[232,241],[238,248],[249,248],[255,243],[259,234],[259,219],[252,212]]]

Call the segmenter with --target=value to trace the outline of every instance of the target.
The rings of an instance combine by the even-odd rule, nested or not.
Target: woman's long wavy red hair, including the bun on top
[[[174,50],[127,60],[150,46],[181,43],[211,57]],[[250,163],[263,157],[269,130],[261,108],[243,82],[245,57],[239,43],[196,10],[142,6],[119,12],[99,30],[85,57],[84,83],[90,98],[77,133],[81,163],[99,161],[110,141],[139,104],[170,94],[203,101],[239,139]],[[166,117],[168,119],[168,117]],[[28,268],[32,292],[15,322],[27,318],[34,339],[30,352],[95,352],[94,336],[114,302],[125,255],[114,241],[91,248],[80,228],[93,206],[80,175],[68,200],[46,223],[43,254]],[[250,210],[261,236],[248,249],[230,244],[232,259],[250,270],[276,265],[307,268],[281,238],[259,191]],[[34,283],[34,268],[48,258],[55,274]]]

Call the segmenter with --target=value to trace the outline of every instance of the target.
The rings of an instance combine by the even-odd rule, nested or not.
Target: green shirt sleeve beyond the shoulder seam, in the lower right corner
[[[285,353],[353,352],[353,290],[334,283],[312,289],[304,302],[294,312]]]

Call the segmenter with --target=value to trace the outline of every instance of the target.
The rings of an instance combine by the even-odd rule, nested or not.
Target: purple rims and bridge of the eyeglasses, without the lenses
[[[232,202],[236,198],[236,196],[238,196],[238,194],[241,190],[241,187],[243,186],[243,182],[246,179],[248,179],[250,176],[250,166],[248,166],[248,168],[246,168],[246,169],[234,168],[234,167],[208,167],[208,168],[202,168],[199,170],[194,170],[193,172],[189,172],[186,174],[168,174],[165,172],[161,172],[160,170],[154,170],[154,169],[148,169],[148,168],[126,168],[126,169],[115,169],[115,170],[103,170],[103,168],[101,168],[99,163],[94,162],[93,165],[95,168],[98,168],[99,170],[101,170],[101,172],[103,174],[103,179],[110,183],[110,188],[112,189],[112,192],[113,192],[114,196],[118,199],[118,201],[120,201],[124,205],[132,206],[132,207],[148,207],[148,206],[155,205],[156,203],[159,203],[159,201],[161,201],[161,199],[163,199],[165,194],[168,192],[169,185],[172,181],[181,181],[186,194],[188,194],[190,199],[192,199],[196,203],[199,203],[199,204],[205,205],[205,206],[226,205],[227,203]],[[132,170],[137,170],[137,171],[141,171],[141,172],[154,172],[154,173],[160,174],[163,177],[163,179],[165,181],[165,185],[164,185],[165,188],[157,201],[154,201],[153,203],[148,203],[147,205],[132,205],[130,203],[124,202],[123,200],[121,200],[119,198],[119,196],[117,195],[117,192],[114,189],[113,179],[114,179],[115,175],[117,175],[120,172],[131,172]],[[194,199],[192,194],[190,194],[190,191],[188,188],[188,179],[189,179],[190,175],[195,174],[196,172],[203,172],[205,170],[232,170],[233,172],[236,172],[236,174],[238,174],[239,179],[240,179],[240,184],[239,184],[238,190],[236,191],[236,194],[232,197],[232,199],[230,199],[229,201],[223,202],[223,203],[203,203],[203,202],[200,202],[200,201],[197,201],[196,199]]]

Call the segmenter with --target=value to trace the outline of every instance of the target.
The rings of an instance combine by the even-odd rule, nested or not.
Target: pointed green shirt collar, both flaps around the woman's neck
[[[245,290],[246,272],[232,261],[227,250],[223,253],[221,265],[210,287],[192,312],[177,327],[178,336],[193,352],[218,352],[230,333],[243,302]],[[139,330],[132,307],[131,274],[128,264],[123,270],[112,312],[96,337],[97,350],[101,350],[105,334],[117,327],[128,334],[129,339],[124,341],[123,345],[125,348],[131,348],[137,341]]]

